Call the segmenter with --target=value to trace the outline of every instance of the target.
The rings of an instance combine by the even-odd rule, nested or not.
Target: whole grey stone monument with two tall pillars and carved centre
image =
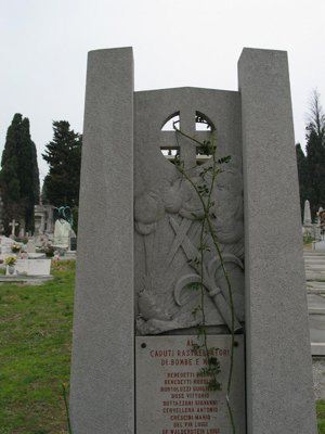
[[[316,432],[286,53],[244,49],[238,82],[134,92],[130,48],[89,54],[70,390],[78,434],[232,433],[227,398],[238,434]],[[193,186],[211,156],[193,136],[217,137],[218,155],[232,156],[211,212],[234,318],[211,234],[195,266],[203,210]],[[219,391],[196,341],[200,292],[187,288],[202,280]]]

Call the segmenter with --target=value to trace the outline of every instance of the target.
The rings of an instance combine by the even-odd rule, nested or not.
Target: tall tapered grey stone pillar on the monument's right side
[[[238,78],[247,433],[313,434],[315,403],[287,53],[244,49]]]

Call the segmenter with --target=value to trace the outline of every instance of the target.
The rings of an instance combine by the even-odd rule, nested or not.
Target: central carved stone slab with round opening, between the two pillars
[[[174,152],[168,155],[168,151],[177,150],[196,184],[212,159],[203,157],[198,143],[180,135],[177,139],[176,131],[166,130],[166,123],[174,115],[176,128],[200,142],[216,135],[218,158],[232,156],[217,177],[211,214],[233,286],[235,328],[239,330],[245,285],[238,93],[198,88],[135,92],[134,113],[136,334],[191,333],[188,329],[202,322],[200,314],[193,315],[200,304],[200,291],[193,288],[198,286],[195,282],[200,281],[200,269],[193,259],[199,257],[202,225],[196,218],[203,209],[193,186],[170,162]],[[226,333],[231,318],[227,286],[212,241],[208,238],[206,242],[210,247],[204,255],[206,326],[213,327],[213,333]]]

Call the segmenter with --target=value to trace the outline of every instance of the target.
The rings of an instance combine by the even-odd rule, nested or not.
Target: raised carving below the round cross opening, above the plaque
[[[191,169],[192,181],[202,182],[200,171],[211,165]],[[211,209],[219,243],[234,286],[235,328],[244,321],[244,243],[240,165],[236,157],[224,166],[214,189]],[[199,303],[199,291],[190,288],[200,282],[199,199],[191,183],[178,174],[165,179],[135,197],[135,231],[141,238],[145,271],[136,289],[136,332],[158,334],[187,329],[200,322],[193,310]],[[227,290],[211,239],[210,253],[205,255],[204,285],[207,326],[231,323]]]

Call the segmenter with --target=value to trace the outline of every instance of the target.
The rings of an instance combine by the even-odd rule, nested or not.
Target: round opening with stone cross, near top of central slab
[[[168,116],[161,126],[160,151],[170,163],[174,163],[176,157],[180,156],[187,168],[210,159],[211,155],[191,139],[177,140],[174,129],[181,129],[200,142],[209,140],[214,126],[205,114],[196,111],[192,115],[191,111],[183,110]]]

